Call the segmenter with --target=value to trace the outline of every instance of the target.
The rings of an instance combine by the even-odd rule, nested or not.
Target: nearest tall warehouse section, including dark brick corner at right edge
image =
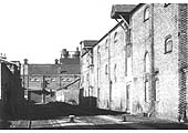
[[[124,12],[133,54],[132,113],[186,117],[187,9],[186,3],[152,3]]]

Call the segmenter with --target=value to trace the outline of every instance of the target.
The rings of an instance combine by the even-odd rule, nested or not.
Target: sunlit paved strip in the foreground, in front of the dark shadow
[[[11,121],[11,129],[118,129],[118,130],[187,130],[188,125],[174,122],[123,122],[114,115],[93,115],[93,116],[75,116],[74,122],[70,122],[69,116],[62,116],[53,120],[19,120]],[[118,115],[119,117],[119,115]],[[142,120],[139,120],[142,121]]]

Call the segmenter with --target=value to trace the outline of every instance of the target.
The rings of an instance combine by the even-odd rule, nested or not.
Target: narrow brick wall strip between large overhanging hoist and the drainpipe
[[[136,10],[132,16],[132,43],[133,43],[133,85],[130,89],[130,112],[133,114],[147,112],[149,101],[145,101],[145,81],[148,80],[148,95],[152,90],[152,38],[150,38],[150,8],[149,19],[144,21],[146,4]],[[145,57],[148,54],[148,71],[145,73]],[[150,96],[147,98],[150,100]]]

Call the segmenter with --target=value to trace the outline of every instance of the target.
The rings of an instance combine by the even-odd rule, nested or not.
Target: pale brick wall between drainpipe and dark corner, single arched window
[[[178,24],[177,4],[154,4],[155,69],[159,72],[156,86],[156,115],[164,119],[177,117],[178,109]],[[165,39],[171,35],[173,51],[165,52]]]

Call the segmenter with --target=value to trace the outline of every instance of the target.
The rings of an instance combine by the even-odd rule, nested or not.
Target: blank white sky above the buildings
[[[9,61],[54,63],[60,51],[100,40],[116,21],[112,4],[127,0],[0,0],[0,53]]]

